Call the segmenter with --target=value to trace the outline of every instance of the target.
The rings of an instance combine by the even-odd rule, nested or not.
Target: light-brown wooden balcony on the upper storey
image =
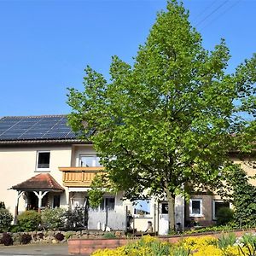
[[[59,167],[62,172],[63,185],[66,187],[90,187],[96,174],[104,167]]]

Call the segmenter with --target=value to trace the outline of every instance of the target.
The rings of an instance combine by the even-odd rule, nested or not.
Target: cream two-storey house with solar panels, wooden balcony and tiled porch
[[[238,161],[236,155],[232,157]],[[105,193],[97,209],[88,207],[90,183],[103,166],[93,145],[79,140],[67,125],[66,115],[0,119],[0,170],[0,201],[15,217],[26,209],[87,206],[89,229],[108,225],[125,230],[127,218],[132,216],[131,226],[137,230],[146,230],[150,221],[154,231],[168,232],[166,201],[123,201],[122,192]],[[212,224],[223,206],[230,204],[216,195],[191,195],[189,203],[177,197],[176,222],[181,227],[191,219]]]

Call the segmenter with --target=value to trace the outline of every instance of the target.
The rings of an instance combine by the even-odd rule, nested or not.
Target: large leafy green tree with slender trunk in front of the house
[[[169,1],[132,65],[113,56],[110,81],[87,67],[84,91],[69,90],[69,123],[94,144],[109,183],[131,200],[166,197],[171,229],[175,196],[218,191],[228,152],[250,150],[256,55],[230,74],[229,60],[224,39],[204,49],[183,4]]]

